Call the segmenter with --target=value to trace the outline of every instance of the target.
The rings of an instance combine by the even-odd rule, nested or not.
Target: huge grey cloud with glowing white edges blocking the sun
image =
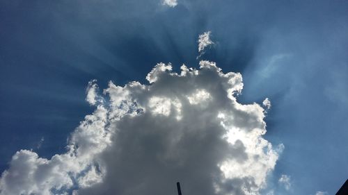
[[[214,62],[200,68],[157,64],[150,84],[110,82],[74,130],[67,152],[51,159],[33,151],[13,155],[0,194],[259,194],[279,151],[262,137],[264,108],[243,105],[242,75]]]

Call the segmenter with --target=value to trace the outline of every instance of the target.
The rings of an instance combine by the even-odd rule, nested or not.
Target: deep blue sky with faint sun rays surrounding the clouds
[[[347,1],[1,1],[0,170],[20,149],[64,153],[95,110],[90,80],[148,83],[158,62],[209,60],[242,74],[239,103],[271,100],[263,137],[285,149],[261,193],[334,194],[348,175],[347,13]]]

